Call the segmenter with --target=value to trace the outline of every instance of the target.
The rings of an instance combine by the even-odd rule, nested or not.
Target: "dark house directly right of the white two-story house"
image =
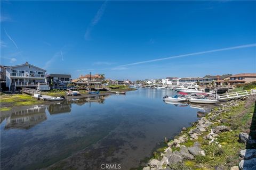
[[[67,89],[67,85],[71,83],[70,74],[49,74],[46,77],[51,89]]]

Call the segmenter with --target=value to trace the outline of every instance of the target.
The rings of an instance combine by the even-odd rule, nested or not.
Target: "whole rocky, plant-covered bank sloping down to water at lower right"
[[[256,169],[256,95],[211,109],[153,153],[143,170]]]

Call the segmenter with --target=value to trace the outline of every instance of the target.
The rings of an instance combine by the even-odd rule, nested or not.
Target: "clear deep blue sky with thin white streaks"
[[[137,80],[255,73],[255,58],[254,1],[1,3],[2,65]]]

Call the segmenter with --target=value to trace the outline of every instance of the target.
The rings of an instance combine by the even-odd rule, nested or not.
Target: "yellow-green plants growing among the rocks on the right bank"
[[[239,151],[246,148],[244,143],[238,142],[238,134],[241,132],[250,132],[252,138],[255,138],[256,136],[256,120],[253,120],[253,114],[255,114],[254,111],[256,110],[255,98],[256,96],[250,96],[246,100],[230,101],[222,106],[212,109],[212,111],[207,114],[205,118],[210,120],[213,124],[206,128],[206,132],[202,132],[201,135],[198,135],[198,139],[189,138],[189,131],[196,128],[196,123],[185,131],[182,131],[180,135],[175,137],[175,139],[178,139],[184,134],[188,137],[188,139],[186,142],[180,143],[180,145],[191,147],[195,142],[199,142],[202,150],[205,152],[205,156],[195,156],[195,159],[193,160],[183,159],[183,163],[172,164],[170,165],[170,168],[174,170],[203,170],[216,169],[217,167],[222,169],[230,169],[233,166],[238,166],[238,163],[240,162]],[[254,124],[252,124],[253,121]],[[214,142],[209,143],[211,140],[205,139],[204,137],[210,133],[212,128],[220,125],[230,127],[231,131],[219,133],[219,136],[214,139]],[[153,158],[161,160],[165,154],[164,150],[166,148],[168,148],[167,145],[154,151]],[[172,146],[169,148],[171,148],[172,151],[180,150],[180,147],[177,146]],[[144,165],[147,164],[147,162],[145,162]],[[142,166],[136,169],[142,169]]]

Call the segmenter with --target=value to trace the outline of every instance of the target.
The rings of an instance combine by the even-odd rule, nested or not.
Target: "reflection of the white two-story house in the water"
[[[6,119],[5,129],[29,129],[47,119],[45,106],[14,112]]]

